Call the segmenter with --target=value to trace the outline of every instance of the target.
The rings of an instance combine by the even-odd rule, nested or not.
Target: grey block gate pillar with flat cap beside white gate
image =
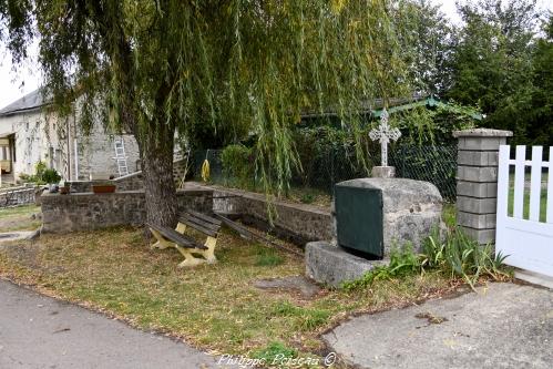
[[[495,242],[499,146],[511,131],[467,130],[459,139],[457,170],[457,224],[480,244]]]

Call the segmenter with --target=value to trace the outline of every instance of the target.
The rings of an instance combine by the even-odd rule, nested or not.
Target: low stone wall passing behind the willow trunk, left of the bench
[[[213,192],[194,188],[177,192],[178,209],[211,213]],[[75,193],[70,195],[43,194],[42,232],[69,233],[113,226],[140,226],[146,219],[143,191],[113,194]]]

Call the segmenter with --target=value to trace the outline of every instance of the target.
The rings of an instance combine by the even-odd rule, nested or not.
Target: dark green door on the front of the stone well
[[[382,192],[338,184],[335,201],[338,245],[383,257]]]

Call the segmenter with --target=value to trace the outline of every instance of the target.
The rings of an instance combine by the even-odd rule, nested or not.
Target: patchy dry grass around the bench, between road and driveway
[[[262,278],[303,275],[298,256],[229,230],[217,247],[216,265],[178,269],[180,254],[151,250],[140,229],[43,235],[0,246],[0,275],[213,353],[249,357],[324,355],[319,334],[349,314],[408,306],[461,284],[437,271],[378,280],[363,290],[322,289],[306,299],[254,287]]]

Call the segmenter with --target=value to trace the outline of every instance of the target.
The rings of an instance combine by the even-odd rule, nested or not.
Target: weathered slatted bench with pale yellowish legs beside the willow
[[[176,229],[160,227],[149,224],[152,234],[157,242],[152,245],[153,248],[164,249],[175,247],[183,256],[184,262],[178,267],[192,267],[202,263],[213,264],[217,262],[215,257],[215,246],[217,245],[217,235],[222,222],[208,215],[197,212],[185,212],[178,216]],[[186,227],[191,227],[207,236],[202,245],[194,238],[184,234]],[[203,258],[195,257],[198,254]]]

